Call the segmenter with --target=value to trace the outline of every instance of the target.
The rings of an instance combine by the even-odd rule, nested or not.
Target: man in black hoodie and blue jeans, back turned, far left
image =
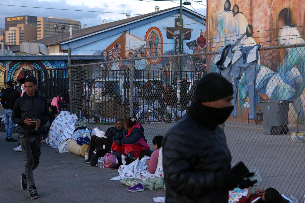
[[[17,142],[17,140],[13,138],[15,124],[12,121],[12,113],[13,113],[14,103],[20,97],[20,94],[14,89],[13,80],[10,80],[5,83],[7,85],[7,88],[3,90],[3,94],[1,97],[1,104],[5,109],[5,120],[6,120],[5,141]]]

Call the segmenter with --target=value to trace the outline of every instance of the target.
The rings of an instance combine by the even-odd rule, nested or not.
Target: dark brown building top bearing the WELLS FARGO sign
[[[18,24],[37,25],[37,16],[13,16],[5,18],[5,31],[10,27],[16,27]]]

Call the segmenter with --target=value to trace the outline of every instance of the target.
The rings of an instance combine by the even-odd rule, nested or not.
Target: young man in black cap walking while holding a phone
[[[16,100],[12,120],[18,124],[18,133],[23,150],[24,172],[21,173],[21,186],[25,190],[29,186],[30,197],[38,198],[34,183],[33,170],[39,164],[41,135],[44,125],[50,118],[50,111],[45,97],[40,96],[37,79],[33,76],[21,78],[25,92]]]

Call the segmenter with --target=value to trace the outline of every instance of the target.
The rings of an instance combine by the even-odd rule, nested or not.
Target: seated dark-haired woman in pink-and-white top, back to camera
[[[145,163],[147,165],[147,170],[149,173],[155,173],[157,167],[163,168],[162,161],[163,161],[163,156],[162,156],[162,140],[163,136],[156,136],[152,140],[152,145],[155,148],[155,151],[152,152],[152,155],[150,159],[146,159]]]

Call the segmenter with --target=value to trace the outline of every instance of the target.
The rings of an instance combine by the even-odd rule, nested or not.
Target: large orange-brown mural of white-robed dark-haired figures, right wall
[[[208,50],[220,51],[228,44],[262,47],[304,43],[305,9],[302,2],[281,0],[218,0],[208,4]],[[243,33],[246,33],[243,36]],[[240,40],[240,41],[238,41]],[[292,100],[304,121],[304,47],[260,51],[255,93],[258,100]],[[210,72],[217,72],[214,57],[207,58]],[[239,114],[249,107],[245,73],[240,77]]]

